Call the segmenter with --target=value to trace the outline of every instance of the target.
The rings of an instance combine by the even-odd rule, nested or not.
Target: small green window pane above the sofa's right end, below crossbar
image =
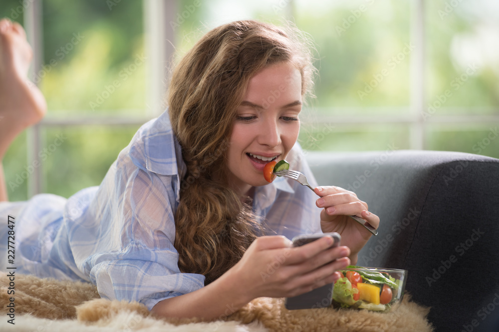
[[[431,125],[427,137],[430,150],[461,151],[499,158],[497,125]]]

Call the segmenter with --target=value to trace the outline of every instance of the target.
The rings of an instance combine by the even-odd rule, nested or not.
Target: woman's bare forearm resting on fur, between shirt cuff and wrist
[[[158,302],[152,312],[162,317],[216,320],[234,314],[252,299],[229,270],[208,286]]]

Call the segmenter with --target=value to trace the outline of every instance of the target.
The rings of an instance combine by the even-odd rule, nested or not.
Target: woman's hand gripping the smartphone
[[[261,236],[229,271],[243,285],[248,301],[262,296],[297,296],[336,281],[340,275],[335,271],[350,264],[350,249],[329,248],[332,243],[332,237],[325,236],[292,247],[284,236]]]

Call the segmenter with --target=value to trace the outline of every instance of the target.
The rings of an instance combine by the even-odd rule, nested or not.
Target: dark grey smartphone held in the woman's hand
[[[303,244],[315,241],[323,236],[330,235],[334,242],[331,247],[337,247],[341,241],[341,235],[332,233],[303,234],[293,237],[293,246],[298,247]],[[304,293],[284,300],[287,310],[326,308],[331,305],[333,297],[333,283],[316,288],[308,293]]]

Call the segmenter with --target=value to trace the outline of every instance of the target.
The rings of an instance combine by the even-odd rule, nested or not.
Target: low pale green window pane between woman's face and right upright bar
[[[399,150],[409,148],[408,133],[407,125],[304,124],[298,141],[304,150],[313,151]]]

